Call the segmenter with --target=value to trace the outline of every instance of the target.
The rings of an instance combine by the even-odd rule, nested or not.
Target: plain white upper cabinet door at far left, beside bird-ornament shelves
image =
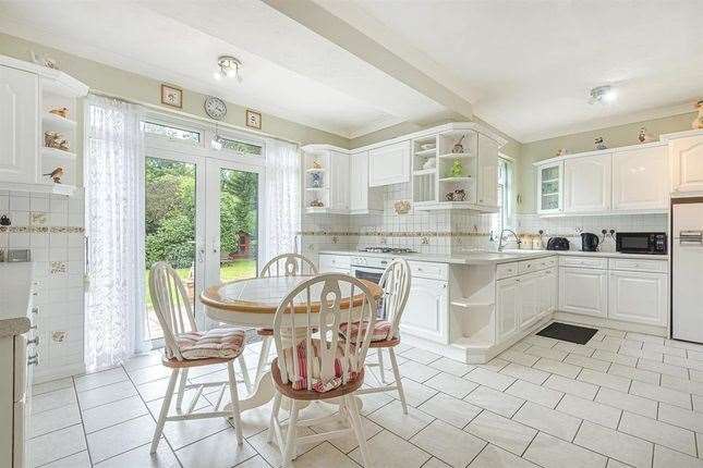
[[[0,65],[0,182],[37,182],[39,78]]]

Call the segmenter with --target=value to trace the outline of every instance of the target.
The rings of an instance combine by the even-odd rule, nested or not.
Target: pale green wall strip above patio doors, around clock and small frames
[[[135,101],[160,106],[165,110],[172,110],[172,108],[161,104],[161,82],[0,33],[0,54],[29,62],[32,61],[31,50],[47,53],[49,57],[56,59],[62,71],[87,84],[92,89],[98,89]],[[179,86],[178,83],[172,83],[172,85]],[[182,111],[192,115],[206,118],[207,115],[203,110],[204,100],[205,95],[184,89]],[[228,102],[228,112],[225,121],[233,125],[245,126],[245,109],[242,106]],[[262,131],[269,135],[299,141],[303,145],[310,143],[326,143],[342,148],[349,147],[348,138],[266,113],[262,116]]]

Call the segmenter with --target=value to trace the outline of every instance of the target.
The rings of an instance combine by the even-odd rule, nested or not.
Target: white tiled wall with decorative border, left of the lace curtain
[[[38,282],[39,366],[36,374],[83,368],[83,197],[0,190],[0,250],[31,249]]]

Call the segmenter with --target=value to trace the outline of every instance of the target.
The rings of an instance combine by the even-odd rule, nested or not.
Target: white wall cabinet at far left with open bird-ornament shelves
[[[75,115],[87,91],[63,72],[0,56],[0,188],[75,192]]]

